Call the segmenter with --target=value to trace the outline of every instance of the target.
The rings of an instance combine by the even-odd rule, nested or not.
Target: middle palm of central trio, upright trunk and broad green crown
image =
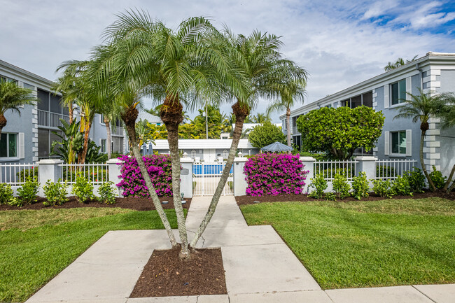
[[[153,21],[144,11],[120,14],[118,20],[104,33],[112,50],[107,57],[104,56],[108,60],[104,66],[106,69],[115,70],[111,75],[116,75],[111,82],[127,85],[134,83],[141,94],[155,100],[164,99],[160,107],[160,118],[167,128],[169,153],[172,157],[172,188],[181,239],[181,258],[188,258],[190,255],[179,182],[178,139],[179,125],[183,121],[182,102],[185,103],[186,97],[196,101],[209,95],[216,97],[218,78],[225,82],[236,80],[230,76],[228,62],[223,54],[211,48],[210,38],[214,35],[216,30],[203,17],[185,20],[177,31],[172,31],[162,22]],[[115,78],[120,75],[124,78]],[[121,90],[114,88],[116,92]],[[131,118],[128,118],[130,115]],[[132,128],[129,126],[132,125],[132,118],[132,113],[123,115],[127,128]],[[133,129],[129,132],[132,131]],[[129,134],[130,139],[135,138],[131,135]],[[134,155],[139,157],[135,152]],[[146,178],[146,174],[143,174]],[[171,239],[173,245],[174,241],[175,239]]]

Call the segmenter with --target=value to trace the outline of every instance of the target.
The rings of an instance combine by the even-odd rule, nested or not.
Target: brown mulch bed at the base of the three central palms
[[[179,258],[180,246],[153,251],[130,297],[225,295],[221,248],[197,249],[189,260]]]

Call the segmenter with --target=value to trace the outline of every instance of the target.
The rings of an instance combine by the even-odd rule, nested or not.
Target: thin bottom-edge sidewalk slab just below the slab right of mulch
[[[230,303],[333,303],[323,290],[230,295]]]

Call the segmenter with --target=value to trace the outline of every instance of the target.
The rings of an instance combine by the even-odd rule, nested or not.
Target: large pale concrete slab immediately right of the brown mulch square
[[[221,255],[229,295],[321,290],[286,244],[221,247]]]

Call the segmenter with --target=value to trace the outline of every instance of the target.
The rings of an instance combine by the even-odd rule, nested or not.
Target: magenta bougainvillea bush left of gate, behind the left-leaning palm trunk
[[[125,163],[120,164],[122,181],[117,184],[123,190],[124,197],[150,197],[146,181],[141,174],[141,169],[134,157],[123,155],[118,159]],[[156,193],[159,197],[172,196],[172,163],[169,155],[148,155],[142,157],[146,164],[148,174],[155,186]]]

